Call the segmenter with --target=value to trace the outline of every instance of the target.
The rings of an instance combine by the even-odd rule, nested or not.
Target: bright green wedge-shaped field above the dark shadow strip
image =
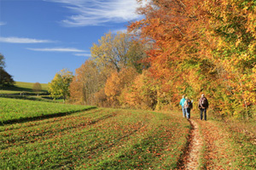
[[[28,119],[84,111],[91,106],[63,105],[25,99],[0,98],[0,123],[22,122]]]

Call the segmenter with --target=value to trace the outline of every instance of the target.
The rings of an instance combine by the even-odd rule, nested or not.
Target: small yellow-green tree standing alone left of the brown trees
[[[69,85],[73,80],[73,73],[63,69],[55,74],[54,79],[49,82],[49,94],[54,99],[63,98],[63,102],[69,97]]]

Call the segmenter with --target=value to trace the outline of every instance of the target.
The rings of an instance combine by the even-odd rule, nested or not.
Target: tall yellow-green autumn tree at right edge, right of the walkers
[[[220,82],[218,103],[223,103],[225,114],[248,118],[250,106],[256,104],[255,2],[206,1],[204,8]]]

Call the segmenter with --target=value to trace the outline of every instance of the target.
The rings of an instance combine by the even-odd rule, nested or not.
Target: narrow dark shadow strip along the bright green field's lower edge
[[[0,122],[0,126],[4,126],[4,125],[7,125],[7,124],[18,123],[18,122],[20,122],[20,123],[32,122],[32,121],[49,119],[49,118],[53,118],[53,117],[68,116],[68,115],[71,115],[73,113],[77,113],[77,112],[80,112],[80,111],[90,111],[92,109],[96,109],[96,106],[91,106],[90,108],[86,108],[84,110],[79,110],[79,111],[59,112],[59,113],[55,113],[55,114],[51,114],[51,115],[24,117],[24,118],[20,118],[20,119],[13,119],[13,120],[9,120],[9,121],[3,121],[3,122]]]

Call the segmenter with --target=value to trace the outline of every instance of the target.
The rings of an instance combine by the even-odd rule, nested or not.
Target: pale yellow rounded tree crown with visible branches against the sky
[[[120,71],[126,66],[133,66],[142,70],[137,61],[147,57],[143,43],[131,37],[128,33],[118,32],[113,35],[111,32],[105,34],[98,44],[94,43],[90,48],[92,59],[101,70],[111,67]]]

